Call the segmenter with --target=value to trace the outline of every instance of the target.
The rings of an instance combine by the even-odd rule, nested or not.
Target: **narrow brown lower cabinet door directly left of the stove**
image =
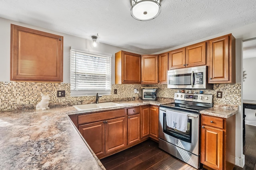
[[[159,107],[149,107],[149,134],[158,141],[159,137]]]

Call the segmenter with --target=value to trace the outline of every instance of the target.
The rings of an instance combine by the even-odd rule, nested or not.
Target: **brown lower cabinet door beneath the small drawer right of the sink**
[[[128,116],[128,145],[140,141],[140,114]]]

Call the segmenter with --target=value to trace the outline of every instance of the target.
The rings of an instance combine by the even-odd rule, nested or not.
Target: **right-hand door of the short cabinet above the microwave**
[[[186,47],[186,67],[206,64],[206,42]]]

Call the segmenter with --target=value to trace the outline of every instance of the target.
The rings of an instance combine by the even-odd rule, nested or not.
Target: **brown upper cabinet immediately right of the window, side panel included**
[[[115,62],[116,84],[141,83],[141,55],[119,51]]]

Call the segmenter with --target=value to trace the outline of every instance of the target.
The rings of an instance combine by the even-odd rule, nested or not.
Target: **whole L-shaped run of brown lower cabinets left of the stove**
[[[158,141],[158,106],[128,107],[70,118],[99,159],[147,140]]]

